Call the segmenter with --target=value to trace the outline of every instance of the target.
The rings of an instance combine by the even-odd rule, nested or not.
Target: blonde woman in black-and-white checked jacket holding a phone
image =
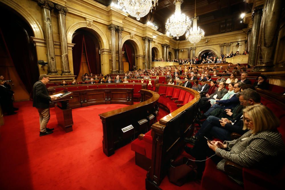
[[[232,141],[207,141],[204,138],[190,152],[196,160],[210,157],[217,164],[217,169],[225,171],[227,160],[242,167],[256,168],[266,173],[278,170],[278,164],[283,160],[285,146],[277,127],[279,119],[264,105],[248,106],[243,110],[243,130],[249,130],[240,138]],[[202,140],[203,139],[203,140]],[[213,152],[214,151],[214,152]],[[268,162],[274,160],[274,162]],[[202,176],[205,162],[196,162],[198,176]],[[229,176],[231,177],[231,176]],[[240,185],[242,176],[231,177]]]

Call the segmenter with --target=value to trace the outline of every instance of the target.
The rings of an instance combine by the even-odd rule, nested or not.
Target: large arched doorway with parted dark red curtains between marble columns
[[[74,32],[72,43],[75,44],[72,49],[74,75],[81,79],[84,73],[100,74],[100,46],[96,36],[80,28]]]

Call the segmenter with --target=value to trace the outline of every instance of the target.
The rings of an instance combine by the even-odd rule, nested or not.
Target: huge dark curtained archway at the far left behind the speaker
[[[0,24],[1,75],[13,81],[15,100],[29,99],[39,77],[36,47],[30,40],[34,33],[26,19],[10,7],[0,4],[0,12],[5,18]]]

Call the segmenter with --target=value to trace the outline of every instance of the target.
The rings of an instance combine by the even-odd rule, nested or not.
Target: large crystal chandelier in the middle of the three
[[[176,39],[179,39],[179,36],[182,36],[191,24],[189,18],[181,14],[180,6],[182,3],[183,0],[173,1],[173,4],[175,4],[175,13],[167,20],[165,25],[166,31],[170,32]]]

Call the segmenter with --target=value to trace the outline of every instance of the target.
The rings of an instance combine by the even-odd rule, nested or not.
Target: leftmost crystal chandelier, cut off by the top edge
[[[147,15],[149,10],[158,5],[158,0],[118,0],[120,5],[132,16],[139,21],[141,17]],[[152,3],[153,1],[153,3]]]

